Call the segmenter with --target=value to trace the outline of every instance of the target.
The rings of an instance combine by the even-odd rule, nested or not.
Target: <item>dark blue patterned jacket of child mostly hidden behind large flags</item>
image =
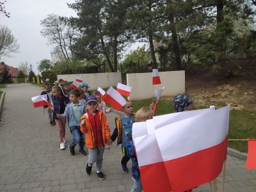
[[[132,141],[129,141],[129,146],[125,148],[126,153],[128,157],[131,157],[132,159],[132,178],[136,181],[140,178],[140,170],[139,170],[139,164],[136,157],[136,152],[134,150],[134,145]]]

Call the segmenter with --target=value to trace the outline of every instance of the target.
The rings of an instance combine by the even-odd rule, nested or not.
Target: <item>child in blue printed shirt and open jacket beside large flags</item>
[[[130,157],[127,156],[125,148],[129,145],[128,133],[132,131],[132,124],[135,122],[135,116],[132,113],[132,103],[127,101],[124,106],[124,115],[115,118],[116,128],[111,136],[111,140],[115,141],[117,137],[117,145],[122,143],[123,157],[121,160],[122,172],[128,173],[127,162]]]

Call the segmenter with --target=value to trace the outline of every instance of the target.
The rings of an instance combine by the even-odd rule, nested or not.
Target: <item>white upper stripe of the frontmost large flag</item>
[[[188,156],[221,143],[227,136],[227,113],[229,106],[157,129],[155,134],[163,160]]]

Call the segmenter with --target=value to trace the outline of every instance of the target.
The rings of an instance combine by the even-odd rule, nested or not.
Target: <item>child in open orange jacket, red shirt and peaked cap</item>
[[[81,132],[85,133],[86,147],[88,147],[88,163],[86,173],[90,175],[92,165],[96,162],[99,179],[106,179],[102,173],[104,143],[111,144],[111,135],[105,113],[97,110],[97,99],[91,95],[86,98],[87,113],[81,117]]]

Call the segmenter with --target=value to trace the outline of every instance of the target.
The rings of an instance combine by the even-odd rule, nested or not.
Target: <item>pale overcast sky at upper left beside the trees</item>
[[[40,20],[51,13],[76,16],[76,12],[67,6],[67,3],[74,2],[75,0],[7,0],[5,8],[11,17],[7,18],[0,13],[0,24],[12,30],[20,49],[19,53],[13,54],[13,58],[3,57],[1,61],[12,67],[18,67],[20,62],[28,61],[37,72],[37,63],[40,60],[51,60],[52,49],[40,35]]]

